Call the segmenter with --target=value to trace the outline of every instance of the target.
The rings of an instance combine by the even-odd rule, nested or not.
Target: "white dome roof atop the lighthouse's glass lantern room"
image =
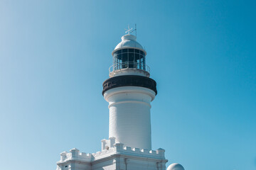
[[[122,36],[122,38],[121,38],[122,41],[119,42],[119,44],[114,48],[112,55],[117,50],[126,48],[126,47],[136,48],[136,49],[139,49],[139,50],[142,50],[143,52],[145,52],[142,45],[140,45],[139,42],[136,41],[136,39],[137,39],[137,37],[134,35],[131,35],[131,34]],[[146,52],[145,52],[145,55],[146,55]]]

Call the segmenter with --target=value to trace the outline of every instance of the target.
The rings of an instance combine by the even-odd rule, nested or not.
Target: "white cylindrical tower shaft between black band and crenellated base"
[[[151,101],[155,92],[140,86],[121,86],[105,92],[110,103],[109,137],[124,146],[151,150]]]

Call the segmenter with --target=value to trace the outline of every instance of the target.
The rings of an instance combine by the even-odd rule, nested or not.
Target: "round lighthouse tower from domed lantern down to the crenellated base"
[[[127,147],[151,150],[151,101],[156,81],[150,79],[146,51],[134,35],[122,36],[112,52],[110,79],[103,83],[102,94],[109,103],[109,137]]]

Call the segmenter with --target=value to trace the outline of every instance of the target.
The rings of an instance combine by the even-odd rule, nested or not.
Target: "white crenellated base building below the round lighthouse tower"
[[[122,143],[115,143],[113,147],[93,154],[80,152],[76,148],[70,149],[70,152],[62,152],[60,161],[57,162],[57,170],[114,170],[125,166],[141,170],[165,170],[166,162],[164,149],[154,151],[124,147]]]

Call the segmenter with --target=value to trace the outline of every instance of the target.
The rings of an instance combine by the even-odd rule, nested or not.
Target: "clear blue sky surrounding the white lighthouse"
[[[102,82],[127,25],[159,94],[152,147],[190,170],[256,169],[256,1],[0,1],[1,169],[100,151]]]

